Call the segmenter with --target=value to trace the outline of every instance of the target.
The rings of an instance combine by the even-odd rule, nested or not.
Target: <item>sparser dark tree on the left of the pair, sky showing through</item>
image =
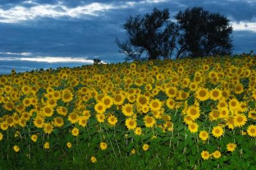
[[[124,24],[128,39],[116,44],[125,60],[154,60],[170,58],[175,46],[177,27],[169,20],[169,11],[154,8],[152,13],[144,16],[130,16]]]

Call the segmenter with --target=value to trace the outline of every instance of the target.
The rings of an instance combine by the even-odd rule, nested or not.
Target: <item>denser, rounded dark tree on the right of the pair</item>
[[[180,52],[191,57],[226,55],[232,52],[230,34],[232,27],[227,17],[220,13],[210,13],[201,7],[187,8],[174,17],[179,26]]]

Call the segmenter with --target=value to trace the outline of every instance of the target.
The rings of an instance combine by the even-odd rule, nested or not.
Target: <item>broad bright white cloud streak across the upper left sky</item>
[[[0,8],[0,22],[16,23],[24,20],[35,20],[36,18],[70,17],[83,18],[84,16],[99,16],[100,13],[108,10],[129,8],[138,4],[163,3],[165,0],[127,1],[123,3],[90,3],[76,7],[68,7],[63,3],[38,4],[33,1],[25,1],[22,4],[38,4],[35,6],[13,6],[8,10]]]

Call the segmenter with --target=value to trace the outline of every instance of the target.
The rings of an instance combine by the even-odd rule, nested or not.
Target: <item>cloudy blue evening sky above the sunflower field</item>
[[[115,38],[127,38],[129,15],[192,6],[230,20],[234,53],[256,51],[256,0],[0,0],[0,73],[123,62]]]

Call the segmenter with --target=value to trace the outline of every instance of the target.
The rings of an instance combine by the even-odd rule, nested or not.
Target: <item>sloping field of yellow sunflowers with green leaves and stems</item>
[[[256,169],[256,56],[0,76],[0,169]]]

